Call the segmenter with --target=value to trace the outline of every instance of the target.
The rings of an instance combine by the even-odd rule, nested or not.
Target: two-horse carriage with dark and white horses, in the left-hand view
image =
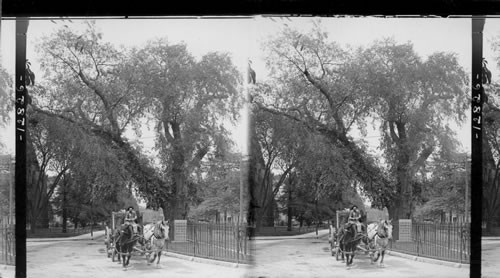
[[[119,262],[123,259],[123,267],[128,265],[132,254],[146,255],[148,264],[157,257],[157,264],[160,262],[164,242],[168,239],[169,223],[163,220],[163,213],[151,212],[146,211],[146,215],[140,213],[137,218],[137,232],[134,232],[131,225],[125,223],[126,212],[111,213],[110,225],[106,226],[104,239],[108,258],[111,257],[113,262],[115,258]]]

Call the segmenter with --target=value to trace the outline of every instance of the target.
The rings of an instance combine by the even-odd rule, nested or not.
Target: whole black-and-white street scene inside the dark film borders
[[[495,22],[484,277],[500,275]],[[26,24],[27,277],[469,277],[470,18]],[[1,277],[15,35],[2,20]]]

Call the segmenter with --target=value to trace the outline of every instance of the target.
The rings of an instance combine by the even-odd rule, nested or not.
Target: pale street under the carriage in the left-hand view
[[[144,256],[132,256],[130,267],[106,257],[103,239],[27,242],[27,274],[33,278],[58,277],[245,277],[244,268],[198,263],[162,256],[160,267],[148,266]]]

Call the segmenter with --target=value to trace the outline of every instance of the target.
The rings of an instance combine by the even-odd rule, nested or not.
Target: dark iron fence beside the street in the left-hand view
[[[228,262],[249,264],[252,261],[247,227],[232,223],[187,223],[185,240],[167,242],[166,249]]]

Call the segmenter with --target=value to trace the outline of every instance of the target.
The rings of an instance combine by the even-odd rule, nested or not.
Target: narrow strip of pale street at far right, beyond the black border
[[[500,238],[481,242],[481,277],[500,277]]]

